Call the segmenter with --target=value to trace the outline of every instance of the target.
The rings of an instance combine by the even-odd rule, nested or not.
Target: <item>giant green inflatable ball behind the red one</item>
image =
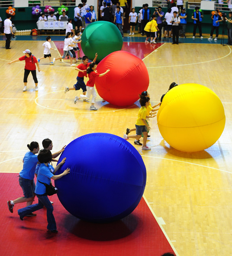
[[[122,49],[122,35],[119,29],[111,22],[96,21],[90,23],[81,36],[81,49],[89,59],[95,58],[100,62],[110,53]]]

